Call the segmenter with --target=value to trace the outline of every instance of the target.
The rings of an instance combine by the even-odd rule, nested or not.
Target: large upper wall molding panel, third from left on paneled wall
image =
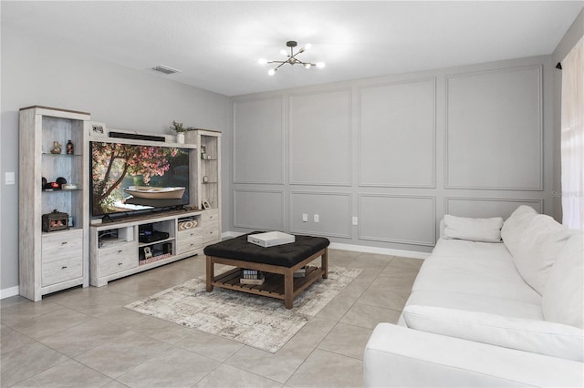
[[[435,188],[435,77],[360,87],[358,116],[360,187]]]

